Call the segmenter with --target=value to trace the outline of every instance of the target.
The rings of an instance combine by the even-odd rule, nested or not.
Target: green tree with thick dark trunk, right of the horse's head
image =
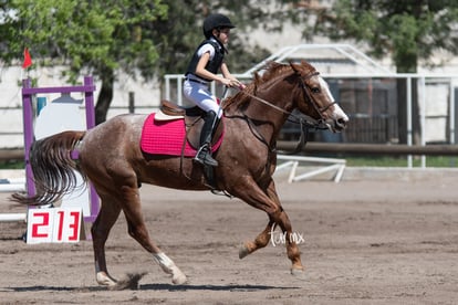
[[[435,51],[458,54],[458,1],[456,0],[339,0],[330,9],[304,10],[316,15],[304,35],[329,36],[331,40],[353,40],[369,46],[369,54],[392,56],[396,71],[416,73],[420,61],[431,65]],[[303,23],[310,24],[303,20]],[[415,88],[415,83],[413,85]],[[398,81],[399,140],[406,143],[405,80]],[[416,90],[413,91],[414,101]],[[418,114],[415,102],[414,114]],[[419,119],[414,116],[414,130],[418,141]]]

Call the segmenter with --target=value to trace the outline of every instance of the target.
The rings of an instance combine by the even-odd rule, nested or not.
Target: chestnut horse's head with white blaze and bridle
[[[327,83],[309,63],[290,63],[299,80],[300,93],[296,97],[296,108],[318,125],[324,125],[330,130],[342,132],[348,122],[347,115],[336,104]]]

